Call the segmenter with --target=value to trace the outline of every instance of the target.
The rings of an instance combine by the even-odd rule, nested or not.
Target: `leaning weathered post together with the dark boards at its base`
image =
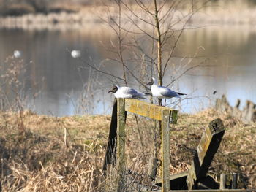
[[[187,172],[170,175],[170,189],[217,189],[219,184],[207,175],[208,168],[219,148],[225,133],[222,120],[216,119],[209,123],[203,132],[200,143],[195,150],[192,165]],[[161,185],[160,182],[157,183]]]

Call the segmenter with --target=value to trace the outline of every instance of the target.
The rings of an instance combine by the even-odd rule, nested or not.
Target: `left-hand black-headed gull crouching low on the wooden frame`
[[[118,87],[116,85],[113,86],[113,88],[108,91],[108,93],[114,93],[116,98],[141,98],[146,99],[144,96],[146,96],[145,93],[141,93],[140,91],[135,90],[134,88],[129,87]]]

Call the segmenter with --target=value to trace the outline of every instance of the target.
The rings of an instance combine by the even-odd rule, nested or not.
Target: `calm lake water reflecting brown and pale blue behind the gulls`
[[[114,84],[113,77],[80,69],[83,62],[69,53],[69,50],[80,50],[84,61],[99,66],[111,54],[105,48],[109,39],[114,39],[113,32],[95,26],[72,30],[1,28],[0,64],[14,50],[22,51],[21,58],[28,64],[26,107],[39,114],[110,113],[113,95],[108,90]],[[183,57],[195,54],[197,59],[185,67],[188,59]],[[175,55],[178,57],[174,63],[181,65],[183,71],[205,59],[209,65],[192,69],[173,86],[174,90],[189,93],[188,98],[176,106],[181,112],[197,112],[210,107],[222,94],[227,95],[232,105],[236,99],[241,99],[241,104],[246,99],[256,103],[256,28],[209,26],[187,30]],[[110,61],[105,70],[121,75],[121,69]],[[167,75],[165,82],[169,79]],[[129,85],[138,88],[132,79]],[[35,88],[39,94],[33,98]],[[214,91],[217,93],[213,94]]]

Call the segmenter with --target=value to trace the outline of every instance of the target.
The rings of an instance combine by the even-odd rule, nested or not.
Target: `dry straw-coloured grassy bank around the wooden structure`
[[[110,116],[54,118],[25,112],[22,124],[19,117],[12,112],[0,115],[3,191],[113,190],[113,177],[102,177]],[[256,188],[256,124],[214,110],[179,116],[170,134],[170,173],[189,169],[193,150],[214,118],[224,120],[226,132],[209,173],[219,180],[222,172],[238,172],[240,188]],[[129,115],[127,126],[127,166],[146,177],[154,123],[138,118],[137,124]]]

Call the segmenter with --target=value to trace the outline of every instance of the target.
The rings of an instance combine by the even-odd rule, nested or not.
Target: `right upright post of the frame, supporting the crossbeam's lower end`
[[[162,192],[170,191],[170,110],[162,110]]]

